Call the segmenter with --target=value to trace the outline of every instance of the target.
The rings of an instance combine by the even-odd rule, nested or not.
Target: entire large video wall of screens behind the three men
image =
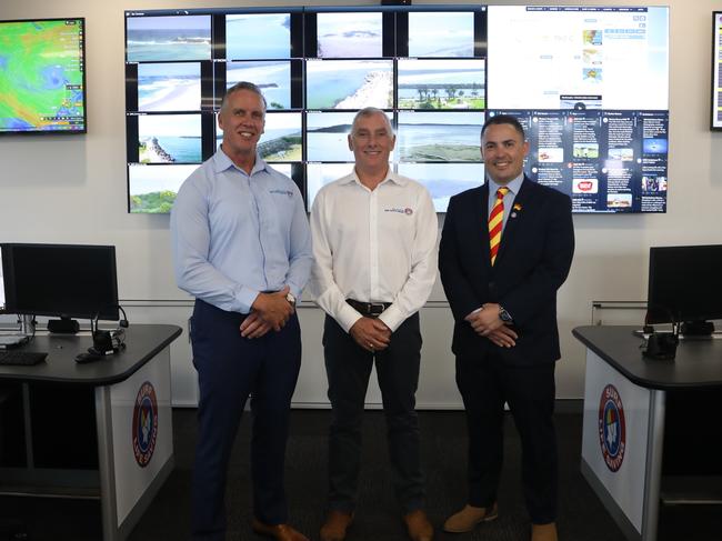
[[[668,14],[471,4],[128,11],[129,211],[170,211],[222,140],[225,89],[248,80],[269,104],[259,152],[309,209],[352,170],[351,121],[374,106],[397,133],[393,169],[427,186],[439,212],[483,183],[479,133],[500,112],[528,129],[530,178],[569,193],[575,211],[664,212]]]

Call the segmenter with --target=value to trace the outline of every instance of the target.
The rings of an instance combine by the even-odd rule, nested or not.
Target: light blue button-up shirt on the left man
[[[178,287],[232,312],[287,284],[300,298],[313,261],[298,187],[260,156],[250,176],[222,150],[197,169],[173,204],[171,240]]]

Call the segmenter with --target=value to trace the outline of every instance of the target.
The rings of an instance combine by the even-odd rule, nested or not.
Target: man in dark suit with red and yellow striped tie
[[[556,541],[556,290],[572,262],[574,229],[570,198],[524,176],[528,152],[515,118],[491,117],[481,130],[488,181],[451,198],[443,226],[439,269],[469,430],[468,503],[444,530],[467,532],[497,518],[507,402],[522,441],[531,539]]]

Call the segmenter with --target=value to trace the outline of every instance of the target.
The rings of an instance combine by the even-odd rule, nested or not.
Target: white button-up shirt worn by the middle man
[[[310,292],[347,332],[361,318],[347,299],[390,302],[379,319],[395,331],[431,294],[438,231],[423,186],[389,170],[372,191],[354,171],[313,202]]]

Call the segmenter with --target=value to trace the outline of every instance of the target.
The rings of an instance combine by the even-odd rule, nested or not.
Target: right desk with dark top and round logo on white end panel
[[[649,360],[634,329],[572,331],[586,345],[581,469],[628,539],[654,541],[668,394],[722,389],[722,340],[683,340],[676,359]]]

